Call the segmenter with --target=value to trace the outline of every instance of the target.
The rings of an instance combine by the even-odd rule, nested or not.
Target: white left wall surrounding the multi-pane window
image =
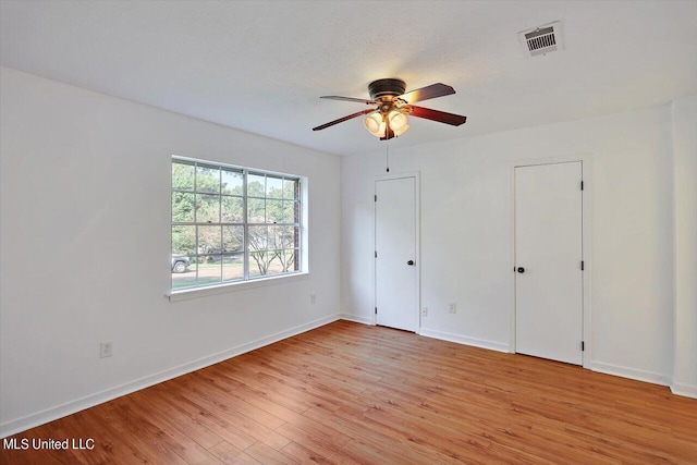
[[[338,318],[338,157],[0,78],[0,436]],[[172,154],[307,176],[310,276],[170,303]]]

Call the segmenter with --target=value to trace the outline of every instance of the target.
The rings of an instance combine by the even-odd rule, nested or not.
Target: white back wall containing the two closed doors
[[[476,115],[470,115],[476,118]],[[411,131],[428,131],[414,121]],[[466,125],[453,131],[466,134]],[[408,133],[405,135],[408,137]],[[513,311],[512,163],[591,159],[591,367],[668,384],[673,371],[673,217],[669,106],[401,147],[391,173],[421,173],[421,332],[508,351]],[[374,179],[380,151],[342,159],[342,311],[374,308]],[[448,303],[457,303],[457,314]]]

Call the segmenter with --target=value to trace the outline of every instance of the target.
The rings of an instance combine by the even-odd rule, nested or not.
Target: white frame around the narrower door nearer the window
[[[421,188],[420,188],[420,172],[412,171],[406,173],[395,173],[395,174],[383,174],[380,176],[376,176],[372,181],[372,194],[377,196],[378,192],[378,182],[380,181],[394,181],[402,179],[414,179],[414,218],[416,221],[415,224],[415,252],[414,252],[414,260],[416,261],[416,289],[414,290],[416,299],[416,314],[417,314],[417,323],[416,323],[416,334],[420,334],[421,331]],[[378,230],[378,204],[374,201],[372,204],[372,249],[377,250],[377,230]],[[377,261],[375,258],[372,259],[372,304],[374,307],[378,306],[378,272],[377,272]],[[372,325],[378,323],[378,316],[374,311],[372,313]]]

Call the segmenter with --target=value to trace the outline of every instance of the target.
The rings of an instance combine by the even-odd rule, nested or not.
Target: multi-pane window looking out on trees
[[[298,176],[172,158],[172,290],[301,271]]]

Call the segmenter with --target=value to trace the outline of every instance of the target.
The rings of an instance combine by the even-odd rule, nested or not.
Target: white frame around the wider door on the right
[[[592,363],[592,332],[591,332],[591,273],[592,273],[592,260],[591,257],[591,244],[590,244],[590,227],[591,227],[591,205],[592,205],[592,182],[591,182],[591,161],[592,157],[590,154],[578,154],[578,155],[568,155],[568,156],[558,156],[558,157],[547,157],[547,158],[535,158],[535,159],[522,159],[512,161],[509,168],[509,178],[510,178],[510,188],[511,195],[509,197],[509,211],[511,218],[511,229],[510,229],[510,266],[509,266],[509,289],[511,289],[511,320],[510,320],[510,335],[509,335],[509,352],[516,352],[516,342],[515,342],[515,169],[521,167],[534,167],[540,164],[558,164],[558,163],[567,163],[573,161],[580,161],[582,166],[582,176],[584,181],[584,189],[582,193],[580,208],[582,208],[582,260],[584,261],[584,271],[583,271],[583,328],[582,335],[584,341],[584,352],[582,353],[583,367],[587,369],[591,369]]]

